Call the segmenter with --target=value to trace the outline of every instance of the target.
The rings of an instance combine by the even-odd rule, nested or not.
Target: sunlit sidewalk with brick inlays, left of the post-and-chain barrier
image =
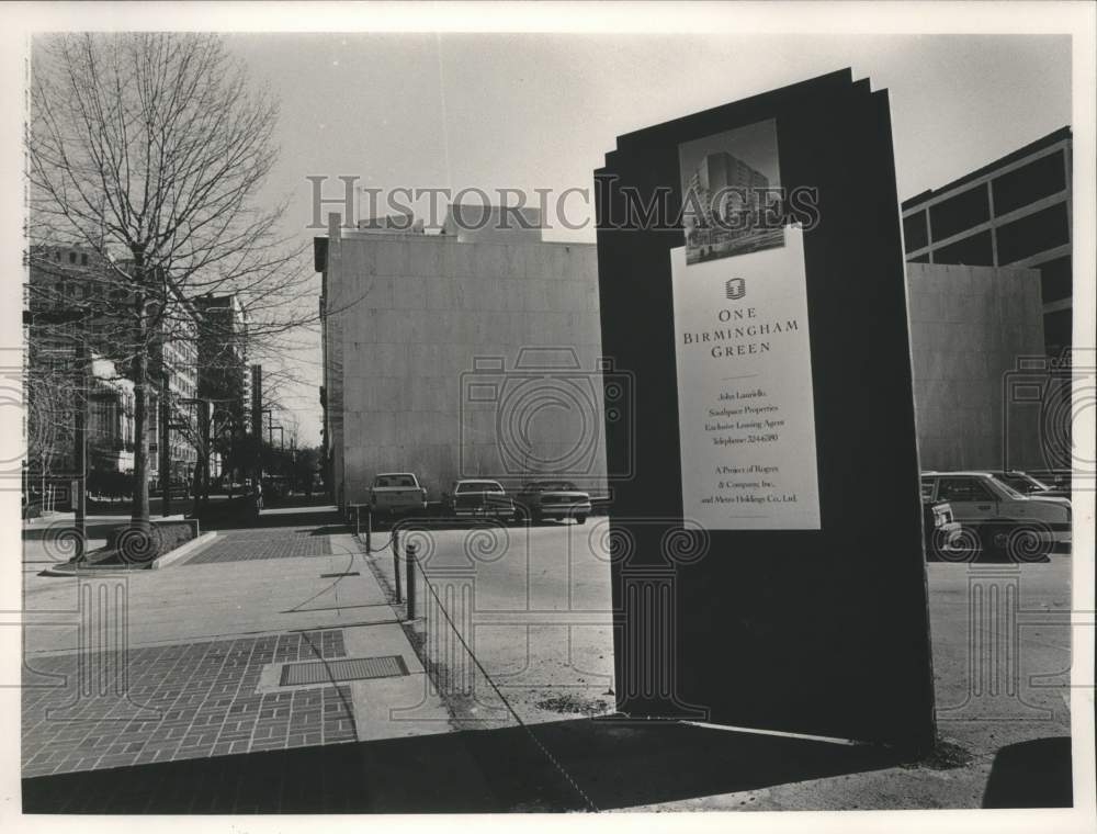
[[[333,530],[237,530],[168,570],[36,584],[23,776],[448,731],[396,612]],[[92,686],[115,670],[110,651],[77,652],[89,616],[125,626],[124,695]],[[394,677],[346,679],[354,658]],[[293,664],[312,677],[283,685]]]

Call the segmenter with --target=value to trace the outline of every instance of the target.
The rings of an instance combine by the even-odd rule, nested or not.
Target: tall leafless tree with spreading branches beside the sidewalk
[[[280,236],[285,204],[258,205],[276,158],[278,108],[219,36],[81,34],[32,55],[30,260],[33,275],[91,252],[91,297],[37,282],[39,304],[83,308],[98,352],[134,382],[134,523],[148,526],[150,387],[166,346],[195,338],[194,300],[236,294],[258,343],[315,320],[303,247]],[[84,266],[84,264],[78,264]],[[42,294],[58,297],[42,297]]]

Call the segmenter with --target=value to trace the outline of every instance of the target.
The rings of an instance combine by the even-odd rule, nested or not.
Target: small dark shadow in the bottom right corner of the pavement
[[[1070,736],[1005,746],[991,765],[983,808],[1071,808],[1071,768]]]

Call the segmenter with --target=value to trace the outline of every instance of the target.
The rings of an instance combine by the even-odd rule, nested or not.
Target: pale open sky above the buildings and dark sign
[[[290,199],[285,230],[303,240],[323,234],[308,228],[307,176],[330,178],[325,196],[341,194],[339,176],[386,191],[589,189],[620,134],[846,67],[889,90],[901,200],[1071,123],[1068,36],[227,38],[253,81],[281,100],[281,158],[264,199]],[[584,212],[581,201],[568,206]],[[595,229],[545,238],[592,243]],[[299,442],[315,443],[319,337],[298,342],[287,361],[305,382],[283,401]]]

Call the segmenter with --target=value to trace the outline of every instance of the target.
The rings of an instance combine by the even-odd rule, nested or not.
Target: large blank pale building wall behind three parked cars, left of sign
[[[595,247],[540,237],[331,218],[316,268],[337,501],[362,500],[389,471],[415,472],[431,500],[464,476],[604,488]]]

